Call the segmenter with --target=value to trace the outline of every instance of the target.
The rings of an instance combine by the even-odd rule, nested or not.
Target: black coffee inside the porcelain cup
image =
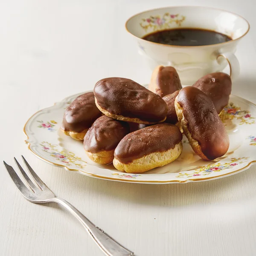
[[[159,44],[200,46],[232,40],[227,35],[204,29],[166,29],[145,35],[143,39]]]

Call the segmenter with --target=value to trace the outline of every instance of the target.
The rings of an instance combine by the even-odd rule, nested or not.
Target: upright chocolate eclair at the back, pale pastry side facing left
[[[151,76],[148,89],[162,98],[182,88],[180,78],[174,67],[157,66]]]

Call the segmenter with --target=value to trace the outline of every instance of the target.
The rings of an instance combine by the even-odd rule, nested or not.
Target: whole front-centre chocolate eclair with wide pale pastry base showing
[[[119,171],[142,173],[171,163],[182,151],[182,134],[176,125],[151,125],[126,135],[114,151]]]

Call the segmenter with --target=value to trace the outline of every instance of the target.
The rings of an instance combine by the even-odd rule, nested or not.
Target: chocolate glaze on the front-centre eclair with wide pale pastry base
[[[151,125],[126,135],[116,147],[114,156],[127,164],[148,154],[175,148],[181,140],[182,134],[176,125]]]

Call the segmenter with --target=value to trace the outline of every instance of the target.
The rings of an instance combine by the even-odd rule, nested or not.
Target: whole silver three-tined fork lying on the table
[[[24,183],[20,180],[19,176],[5,161],[3,161],[9,175],[14,181],[17,188],[20,190],[21,194],[32,203],[44,204],[48,202],[55,202],[57,204],[65,207],[69,212],[71,212],[85,227],[88,233],[92,236],[93,240],[102,251],[108,256],[133,256],[134,253],[130,250],[123,247],[116,240],[114,240],[111,236],[105,233],[102,229],[95,226],[91,221],[89,221],[78,209],[73,207],[70,203],[65,201],[64,199],[58,198],[54,195],[54,193],[44,184],[44,182],[38,177],[38,175],[33,171],[31,166],[28,164],[26,159],[21,156],[28,172],[33,177],[33,181],[26,175],[26,172],[22,169],[16,158],[14,158],[17,167],[20,169],[21,174],[25,178],[26,182],[30,189],[28,189]],[[36,186],[37,184],[38,186]]]

